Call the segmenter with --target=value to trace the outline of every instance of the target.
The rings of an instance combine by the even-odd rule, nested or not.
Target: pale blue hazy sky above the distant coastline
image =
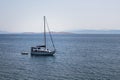
[[[118,30],[120,0],[0,0],[0,31]]]

